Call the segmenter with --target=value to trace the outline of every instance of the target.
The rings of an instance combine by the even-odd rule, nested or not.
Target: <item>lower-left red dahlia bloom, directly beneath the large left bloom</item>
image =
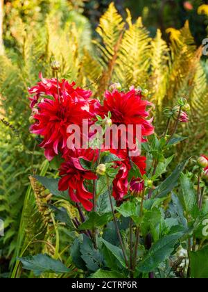
[[[85,170],[80,164],[80,159],[94,161],[96,152],[92,149],[78,149],[69,152],[65,162],[60,167],[60,177],[58,184],[59,190],[69,190],[71,200],[83,205],[85,210],[92,211],[93,204],[90,201],[93,194],[85,188],[85,179],[96,179],[96,175]]]

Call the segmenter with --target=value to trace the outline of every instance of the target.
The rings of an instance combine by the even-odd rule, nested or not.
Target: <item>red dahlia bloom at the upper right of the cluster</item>
[[[141,136],[150,136],[154,133],[154,127],[151,124],[153,119],[146,120],[150,115],[146,108],[147,106],[153,106],[153,104],[141,98],[141,92],[138,94],[135,88],[126,93],[119,92],[118,90],[106,91],[99,115],[105,117],[110,112],[113,124],[125,124],[126,127],[129,124],[132,124],[134,127],[141,125]]]

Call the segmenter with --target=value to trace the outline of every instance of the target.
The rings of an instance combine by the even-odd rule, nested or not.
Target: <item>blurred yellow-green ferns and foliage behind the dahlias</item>
[[[207,60],[201,58],[200,47],[207,16],[197,13],[206,1],[190,1],[190,11],[184,8],[184,1],[114,1],[118,10],[110,4],[107,12],[110,1],[4,2],[6,53],[0,58],[0,218],[6,225],[6,236],[0,239],[3,276],[11,270],[15,255],[31,241],[27,236],[37,235],[43,225],[46,229],[37,239],[52,238],[52,245],[54,241],[53,218],[42,222],[36,182],[33,192],[28,179],[33,173],[56,175],[53,165],[44,163],[38,142],[28,132],[27,88],[38,80],[39,72],[53,76],[51,60],[60,60],[60,76],[93,88],[95,97],[101,97],[112,81],[119,81],[124,89],[130,85],[148,88],[156,106],[159,135],[166,124],[162,109],[173,106],[180,96],[187,97],[191,122],[180,127],[180,134],[189,138],[175,146],[175,164],[184,156],[206,152],[208,131]],[[185,22],[187,19],[190,22]],[[67,208],[71,212],[70,204]],[[33,216],[28,216],[31,213]],[[63,245],[64,240],[62,236]],[[39,247],[39,252],[44,248]]]

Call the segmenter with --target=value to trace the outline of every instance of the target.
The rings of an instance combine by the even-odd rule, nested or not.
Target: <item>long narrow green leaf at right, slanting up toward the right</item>
[[[177,181],[180,178],[181,172],[184,170],[189,160],[185,160],[177,168],[173,170],[172,174],[162,182],[154,191],[154,197],[165,197],[168,193],[171,193],[173,188],[177,186]]]

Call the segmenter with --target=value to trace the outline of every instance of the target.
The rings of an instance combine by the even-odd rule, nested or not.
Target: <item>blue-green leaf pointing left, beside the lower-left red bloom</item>
[[[37,181],[40,182],[45,188],[47,188],[52,195],[55,195],[55,197],[60,197],[64,200],[69,201],[69,194],[67,191],[62,192],[58,190],[58,181],[59,179],[52,179],[49,177],[40,177],[39,175],[34,176]]]

